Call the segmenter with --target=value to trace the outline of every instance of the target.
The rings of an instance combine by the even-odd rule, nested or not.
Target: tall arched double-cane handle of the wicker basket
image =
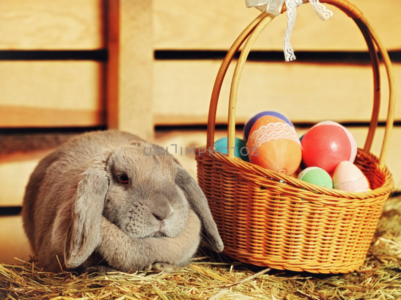
[[[391,131],[393,129],[394,122],[394,109],[395,109],[395,80],[394,74],[391,66],[391,61],[387,50],[383,47],[377,33],[371,27],[369,21],[363,16],[362,12],[353,4],[346,0],[321,0],[321,2],[332,4],[345,12],[350,16],[360,28],[367,46],[369,48],[369,53],[371,55],[372,67],[373,67],[373,80],[374,80],[374,104],[371,124],[369,127],[369,132],[367,135],[367,140],[365,142],[364,150],[369,152],[375,130],[377,128],[377,120],[379,117],[379,107],[380,107],[380,77],[379,77],[379,60],[377,57],[377,50],[380,52],[383,62],[385,64],[388,82],[389,82],[389,108],[387,112],[387,123],[385,129],[385,136],[383,139],[379,166],[383,167],[385,165],[385,160],[387,158],[387,153],[389,149]],[[285,12],[286,8],[283,6],[282,12]],[[247,59],[247,56],[251,50],[251,47],[261,31],[267,26],[267,24],[274,18],[274,15],[262,13],[260,14],[245,30],[240,34],[240,36],[235,40],[234,44],[231,46],[227,55],[225,56],[223,63],[217,74],[215,80],[215,85],[213,87],[211,103],[209,107],[209,118],[208,118],[208,131],[207,131],[207,148],[213,149],[213,140],[215,135],[215,122],[216,122],[216,109],[218,98],[221,90],[221,84],[223,83],[224,76],[227,72],[227,68],[233,59],[235,53],[238,51],[239,47],[245,42],[241,55],[237,61],[235,67],[233,81],[231,83],[230,98],[229,98],[229,115],[228,115],[228,147],[229,147],[229,158],[234,158],[234,136],[235,136],[235,106],[237,101],[237,92],[239,86],[239,79],[241,78],[241,73]],[[377,50],[375,48],[377,47]]]

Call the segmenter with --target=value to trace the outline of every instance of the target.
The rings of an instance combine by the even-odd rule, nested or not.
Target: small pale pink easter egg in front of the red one
[[[369,183],[357,166],[348,160],[340,162],[333,174],[333,186],[348,192],[367,192]]]

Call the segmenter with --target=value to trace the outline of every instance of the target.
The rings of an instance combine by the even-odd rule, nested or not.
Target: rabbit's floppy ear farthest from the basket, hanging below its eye
[[[81,174],[65,241],[67,268],[79,267],[99,244],[100,221],[109,188],[110,178],[106,168],[110,155],[111,152],[98,154]]]

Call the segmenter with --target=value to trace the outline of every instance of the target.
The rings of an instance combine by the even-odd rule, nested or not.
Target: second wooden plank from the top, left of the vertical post
[[[0,62],[0,127],[105,125],[103,64]]]

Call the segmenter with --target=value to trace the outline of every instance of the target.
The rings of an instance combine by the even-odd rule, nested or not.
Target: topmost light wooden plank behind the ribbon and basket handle
[[[243,0],[155,0],[155,49],[227,50],[260,12]],[[389,50],[401,49],[401,2],[353,0]],[[291,43],[294,50],[366,50],[362,34],[351,18],[330,6],[334,16],[322,22],[310,6],[297,8]],[[279,16],[262,32],[253,50],[282,50],[287,18]],[[296,52],[295,52],[296,53]],[[284,60],[284,55],[283,55]]]

